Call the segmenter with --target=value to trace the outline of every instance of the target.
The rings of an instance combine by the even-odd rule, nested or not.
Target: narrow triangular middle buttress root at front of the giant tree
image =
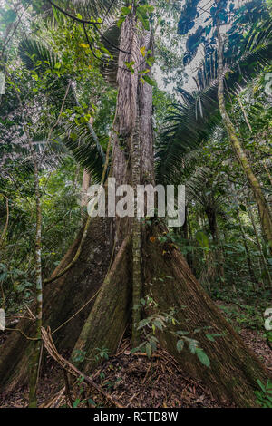
[[[115,353],[131,313],[131,243],[125,238],[74,346],[72,361],[85,373],[101,363],[97,348]],[[79,361],[76,361],[77,355]],[[84,356],[85,354],[85,356]]]

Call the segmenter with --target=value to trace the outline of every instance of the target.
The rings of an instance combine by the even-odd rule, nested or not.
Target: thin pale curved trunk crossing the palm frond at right
[[[224,67],[223,67],[223,40],[222,35],[219,32],[218,28],[218,61],[219,61],[219,111],[222,117],[223,124],[228,132],[228,139],[231,143],[233,150],[235,151],[238,161],[241,164],[242,169],[244,170],[248,183],[253,190],[254,198],[257,202],[257,207],[260,215],[260,222],[263,228],[264,235],[269,244],[269,249],[272,253],[272,218],[270,210],[267,206],[266,198],[263,195],[261,186],[257,177],[255,176],[253,169],[248,160],[246,152],[243,150],[238,136],[235,130],[235,127],[228,116],[226,109],[225,98],[224,98]]]

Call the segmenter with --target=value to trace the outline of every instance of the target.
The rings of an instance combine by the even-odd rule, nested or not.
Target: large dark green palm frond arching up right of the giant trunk
[[[245,86],[272,60],[272,24],[248,38],[248,48],[236,63],[225,63],[225,92]],[[211,66],[211,63],[214,63]],[[218,79],[216,57],[199,71],[198,89],[180,90],[184,102],[174,105],[170,123],[157,142],[156,173],[160,182],[173,182],[180,171],[182,158],[189,150],[209,139],[219,124]]]

